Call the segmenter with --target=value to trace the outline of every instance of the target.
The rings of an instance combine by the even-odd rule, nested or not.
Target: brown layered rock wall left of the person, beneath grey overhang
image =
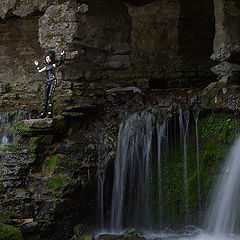
[[[44,87],[43,75],[37,74],[33,64],[43,54],[38,19],[8,19],[0,23],[0,31],[0,107],[35,108]]]

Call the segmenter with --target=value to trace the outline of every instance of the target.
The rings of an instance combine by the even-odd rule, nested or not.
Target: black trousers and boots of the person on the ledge
[[[53,93],[55,90],[56,80],[47,80],[45,88],[45,101],[43,106],[43,114],[52,115],[53,111]],[[47,112],[48,110],[48,112]]]

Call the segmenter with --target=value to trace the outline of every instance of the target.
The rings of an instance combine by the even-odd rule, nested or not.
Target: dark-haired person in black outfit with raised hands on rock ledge
[[[55,52],[50,50],[46,52],[45,62],[46,66],[42,69],[39,67],[38,60],[34,61],[34,64],[37,66],[38,72],[46,71],[46,88],[45,88],[45,101],[43,106],[43,111],[39,115],[39,118],[52,118],[53,117],[53,93],[55,86],[57,84],[57,78],[54,73],[54,68],[59,67],[62,64],[64,51],[61,52],[61,57],[58,63],[55,63]],[[47,106],[48,105],[48,106]]]

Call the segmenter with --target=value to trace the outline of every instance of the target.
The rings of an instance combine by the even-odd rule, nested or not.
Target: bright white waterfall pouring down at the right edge
[[[206,226],[215,236],[239,232],[240,137],[235,141],[214,191]],[[237,229],[238,226],[238,229]]]

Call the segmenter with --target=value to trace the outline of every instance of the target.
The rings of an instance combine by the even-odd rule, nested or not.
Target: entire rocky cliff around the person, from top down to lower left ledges
[[[151,106],[170,115],[179,105],[240,109],[236,0],[0,0],[0,17],[1,109],[36,116],[45,76],[33,60],[43,66],[46,50],[57,60],[66,52],[57,70],[58,116],[17,124],[18,145],[0,154],[1,210],[14,211],[29,238],[62,239],[64,231],[70,239],[74,225],[93,222],[98,175],[112,174],[119,122],[128,115]],[[216,80],[212,50],[221,80],[202,92],[176,90]],[[75,230],[73,239],[81,237]]]

